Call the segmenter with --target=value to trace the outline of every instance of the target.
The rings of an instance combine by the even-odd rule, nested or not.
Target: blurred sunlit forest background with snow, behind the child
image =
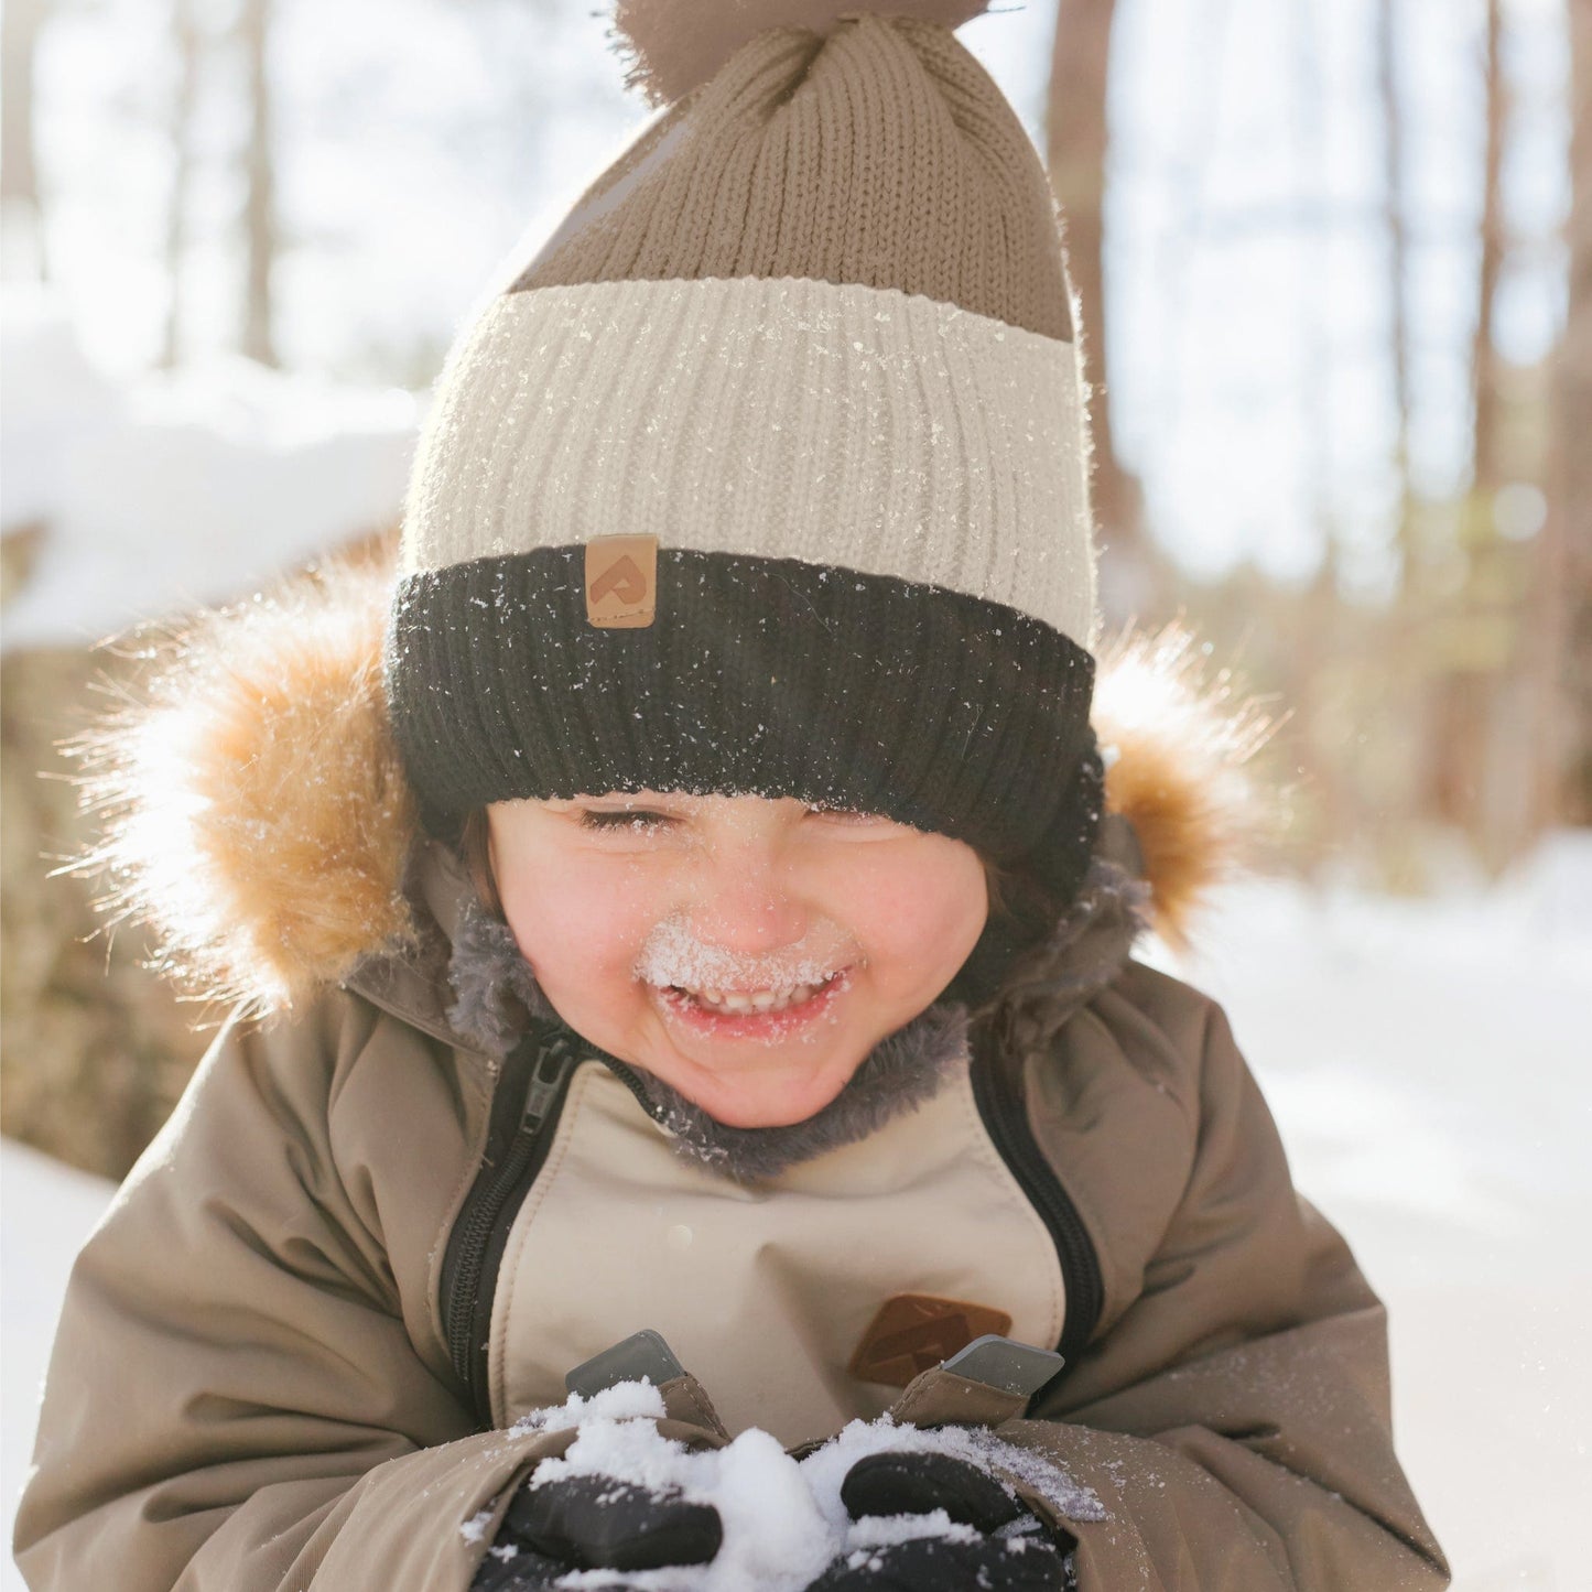
[[[89,646],[395,524],[482,283],[648,113],[581,0],[3,27],[3,1129],[121,1175],[205,1035],[48,877]],[[1418,895],[1592,823],[1592,0],[962,38],[1068,218],[1106,618],[1181,616],[1286,715],[1291,866]]]

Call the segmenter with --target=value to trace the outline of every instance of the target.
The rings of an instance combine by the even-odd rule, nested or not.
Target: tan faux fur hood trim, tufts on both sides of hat
[[[420,829],[380,683],[390,595],[384,562],[334,562],[142,632],[116,710],[73,747],[103,818],[80,871],[108,880],[113,917],[153,925],[158,965],[197,998],[263,1016],[416,942]],[[1245,764],[1269,720],[1202,665],[1172,627],[1108,648],[1095,686],[1106,809],[1132,823],[1172,941],[1266,828]]]

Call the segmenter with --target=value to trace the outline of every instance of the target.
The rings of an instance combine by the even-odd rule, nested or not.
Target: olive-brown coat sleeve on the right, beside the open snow
[[[1067,1520],[1079,1592],[1434,1592],[1393,1452],[1387,1315],[1293,1188],[1270,1111],[1204,1001],[1192,1169],[1141,1293],[1001,1428],[1103,1517]]]

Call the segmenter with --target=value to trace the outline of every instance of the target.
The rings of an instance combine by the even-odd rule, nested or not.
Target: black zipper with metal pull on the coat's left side
[[[537,1024],[503,1060],[492,1095],[492,1119],[474,1184],[454,1219],[443,1256],[441,1315],[447,1353],[482,1430],[492,1425],[487,1339],[497,1272],[513,1221],[541,1162],[575,1071],[576,1040],[568,1028]]]

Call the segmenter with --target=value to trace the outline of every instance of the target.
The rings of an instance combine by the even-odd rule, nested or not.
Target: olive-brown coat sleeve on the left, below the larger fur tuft
[[[323,1005],[223,1030],[76,1261],[16,1522],[35,1592],[463,1592],[546,1446],[474,1433],[417,1352],[331,1148],[393,1020]]]

